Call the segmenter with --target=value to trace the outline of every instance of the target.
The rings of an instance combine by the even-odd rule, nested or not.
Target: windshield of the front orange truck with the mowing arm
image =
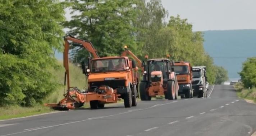
[[[124,58],[115,59],[98,59],[92,60],[91,72],[111,72],[111,71],[125,71],[126,64]]]

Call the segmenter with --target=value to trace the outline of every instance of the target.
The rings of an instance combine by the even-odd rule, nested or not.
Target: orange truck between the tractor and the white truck
[[[175,62],[173,66],[174,72],[177,74],[179,83],[178,95],[184,98],[193,97],[192,89],[192,67],[189,62]]]

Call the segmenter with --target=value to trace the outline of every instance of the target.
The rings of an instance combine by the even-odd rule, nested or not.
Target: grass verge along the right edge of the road
[[[237,96],[243,99],[250,99],[256,103],[256,88],[245,89],[242,83],[236,83],[234,88],[237,90]]]

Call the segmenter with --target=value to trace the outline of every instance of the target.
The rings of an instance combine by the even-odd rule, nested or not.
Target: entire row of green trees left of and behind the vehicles
[[[66,7],[74,13],[69,21]],[[33,106],[58,88],[51,69],[59,68],[54,50],[62,50],[63,28],[92,42],[101,57],[120,55],[128,45],[142,60],[170,54],[171,60],[205,65],[209,83],[225,79],[216,76],[203,33],[179,15],[168,17],[161,0],[0,0],[0,106]],[[70,52],[74,63],[88,56],[80,48]]]

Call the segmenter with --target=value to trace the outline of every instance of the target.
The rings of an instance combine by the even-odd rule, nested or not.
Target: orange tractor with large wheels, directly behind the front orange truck
[[[146,56],[147,59],[147,56]],[[177,99],[179,85],[169,59],[149,59],[143,63],[143,80],[140,83],[142,101],[151,97],[165,96],[165,99]]]

